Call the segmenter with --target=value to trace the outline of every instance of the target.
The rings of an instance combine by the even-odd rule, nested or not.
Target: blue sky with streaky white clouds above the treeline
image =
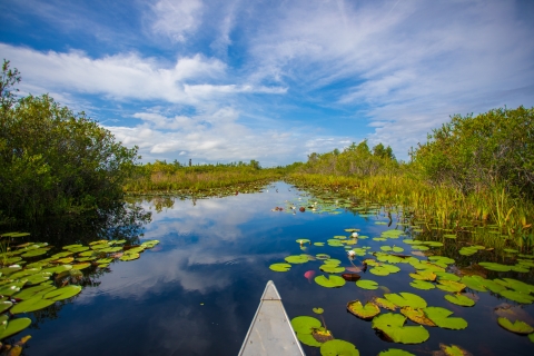
[[[397,158],[454,113],[534,106],[534,1],[0,1],[21,93],[86,111],[145,161]]]

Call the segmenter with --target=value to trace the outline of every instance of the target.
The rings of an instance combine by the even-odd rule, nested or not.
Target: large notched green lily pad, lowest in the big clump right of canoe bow
[[[384,333],[389,339],[400,344],[421,344],[429,334],[423,326],[404,326],[406,317],[399,314],[382,314],[373,319],[372,327]]]

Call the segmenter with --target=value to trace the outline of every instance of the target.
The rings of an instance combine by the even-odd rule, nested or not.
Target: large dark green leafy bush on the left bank
[[[108,130],[48,95],[17,99],[4,62],[0,111],[0,210],[9,217],[81,212],[122,198],[137,159]]]

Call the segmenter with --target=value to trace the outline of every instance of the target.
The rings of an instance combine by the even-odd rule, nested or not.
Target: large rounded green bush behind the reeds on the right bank
[[[495,185],[534,195],[534,108],[494,109],[476,117],[455,115],[411,152],[432,184],[464,192]],[[513,191],[515,189],[515,191]]]

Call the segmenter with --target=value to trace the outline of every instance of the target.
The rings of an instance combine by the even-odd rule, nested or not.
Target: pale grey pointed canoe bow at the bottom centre
[[[305,355],[273,280],[265,286],[239,355]]]

